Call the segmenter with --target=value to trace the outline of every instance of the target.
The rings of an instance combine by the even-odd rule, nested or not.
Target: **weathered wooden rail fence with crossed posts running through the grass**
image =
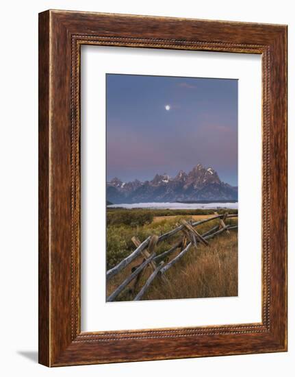
[[[136,267],[133,267],[131,274],[123,280],[122,283],[107,297],[107,302],[112,302],[116,299],[116,297],[129,285],[129,283],[132,282],[132,280],[135,280],[133,284],[133,289],[130,290],[130,292],[136,291],[136,288],[138,287],[138,282],[140,280],[140,276],[142,276],[142,273],[145,271],[145,269],[149,266],[151,267],[152,273],[149,276],[149,278],[146,280],[144,285],[142,286],[142,289],[136,294],[136,296],[133,298],[134,301],[140,300],[144,293],[146,293],[147,289],[157,278],[157,276],[161,276],[162,279],[167,280],[165,273],[175,265],[185,254],[187,254],[192,246],[195,248],[198,247],[198,243],[201,243],[202,245],[205,245],[206,247],[209,245],[208,240],[213,239],[214,237],[218,236],[219,234],[222,234],[223,232],[227,232],[229,234],[230,230],[238,229],[238,225],[230,225],[226,224],[227,219],[231,218],[238,218],[238,214],[231,214],[229,215],[227,212],[222,215],[214,215],[212,217],[208,217],[207,219],[203,219],[200,221],[185,221],[181,220],[181,225],[177,226],[176,228],[170,230],[170,232],[166,232],[160,236],[149,236],[144,241],[140,242],[137,237],[133,237],[132,241],[134,245],[136,245],[136,250],[134,250],[129,256],[124,258],[123,260],[118,263],[118,265],[112,267],[112,269],[109,269],[107,271],[107,280],[115,276],[118,272],[122,271],[130,265],[130,263],[138,258],[138,256],[143,256],[142,263],[137,265]],[[216,219],[219,219],[219,224],[217,226],[214,226],[213,228],[207,230],[207,232],[200,234],[196,227],[207,223],[208,221],[214,221]],[[162,252],[161,254],[155,253],[155,247],[162,241],[165,241],[170,236],[173,236],[177,234],[178,232],[182,232],[181,239],[175,243],[172,247],[170,247],[169,250],[166,250],[166,252]],[[175,252],[177,249],[180,249],[179,254],[172,258],[172,260],[168,260],[168,256]],[[164,261],[165,259],[166,261]],[[159,264],[158,264],[159,262]]]

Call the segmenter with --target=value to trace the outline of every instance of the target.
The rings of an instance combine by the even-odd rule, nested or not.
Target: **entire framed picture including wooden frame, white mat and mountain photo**
[[[39,14],[39,362],[287,350],[287,26]]]

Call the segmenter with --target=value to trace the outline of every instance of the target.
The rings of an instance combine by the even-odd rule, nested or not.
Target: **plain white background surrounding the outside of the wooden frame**
[[[289,104],[295,102],[292,1],[38,0],[1,4],[0,357],[12,376],[292,376],[295,358],[295,130],[289,106],[289,352],[49,369],[37,364],[38,282],[38,12],[88,10],[289,25]],[[292,369],[291,369],[292,368]]]

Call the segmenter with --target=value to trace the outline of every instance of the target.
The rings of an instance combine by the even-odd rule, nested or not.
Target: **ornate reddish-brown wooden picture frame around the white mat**
[[[81,332],[81,45],[259,53],[262,322]],[[39,14],[39,362],[47,366],[287,350],[287,26],[48,10]]]

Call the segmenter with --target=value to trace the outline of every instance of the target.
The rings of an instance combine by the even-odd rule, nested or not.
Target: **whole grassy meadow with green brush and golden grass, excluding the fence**
[[[207,212],[207,213],[204,213]],[[221,213],[222,211],[218,211]],[[237,212],[231,210],[229,212]],[[107,269],[114,267],[134,249],[131,238],[137,236],[144,241],[151,234],[163,234],[175,228],[181,219],[203,219],[214,214],[212,210],[107,210]],[[206,216],[204,216],[206,215]],[[229,219],[228,223],[237,223],[238,219]],[[201,234],[218,225],[218,220],[209,221],[197,230]],[[183,236],[182,232],[171,236],[157,245],[157,254],[168,250]],[[168,257],[172,260],[180,249]],[[168,261],[166,259],[165,261]],[[131,268],[142,262],[142,256],[133,260],[131,265],[120,271],[107,283],[107,295],[130,273]],[[133,282],[120,293],[117,301],[133,300],[151,274],[147,267],[140,278],[136,291]],[[192,297],[227,297],[238,295],[238,232],[231,230],[209,241],[209,246],[198,244],[172,266],[163,280],[155,278],[142,300],[160,300]]]

